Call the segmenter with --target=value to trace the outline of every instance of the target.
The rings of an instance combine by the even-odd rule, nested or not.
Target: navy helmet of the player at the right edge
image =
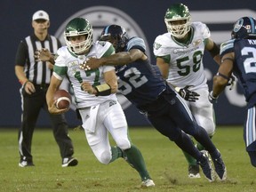
[[[231,37],[234,39],[256,38],[256,20],[252,17],[242,17],[236,20]]]

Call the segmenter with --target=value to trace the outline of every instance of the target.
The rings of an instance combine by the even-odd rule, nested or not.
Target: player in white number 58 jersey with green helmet
[[[165,12],[167,33],[154,43],[156,65],[169,84],[186,100],[197,124],[212,138],[215,132],[214,112],[208,100],[209,88],[204,74],[204,50],[220,64],[220,48],[212,41],[209,28],[202,22],[191,22],[185,4],[172,4]],[[203,150],[202,143],[196,147]],[[188,177],[200,178],[196,159],[184,152],[188,161]]]

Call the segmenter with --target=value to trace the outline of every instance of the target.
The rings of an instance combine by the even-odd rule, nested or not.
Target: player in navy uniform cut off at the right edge
[[[241,84],[247,102],[247,116],[244,122],[244,143],[256,167],[256,20],[252,17],[242,17],[236,20],[231,33],[232,39],[220,45],[221,65],[213,77],[213,90],[209,100],[216,101],[231,76],[231,73]]]

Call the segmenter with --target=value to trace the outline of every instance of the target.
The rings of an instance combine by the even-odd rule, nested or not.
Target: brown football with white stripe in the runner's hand
[[[72,97],[66,90],[58,90],[54,93],[53,100],[57,100],[56,102],[56,108],[63,109],[63,108],[69,108],[70,103],[72,101]]]

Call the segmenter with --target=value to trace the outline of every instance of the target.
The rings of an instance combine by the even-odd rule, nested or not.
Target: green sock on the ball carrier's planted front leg
[[[140,173],[141,180],[151,180],[139,148],[132,145],[131,148],[124,150],[124,160]]]

